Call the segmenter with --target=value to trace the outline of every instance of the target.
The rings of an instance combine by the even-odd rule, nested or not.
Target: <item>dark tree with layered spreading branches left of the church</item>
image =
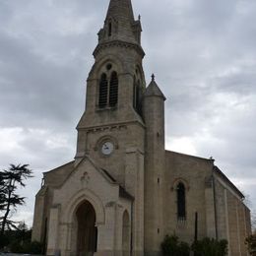
[[[18,185],[25,187],[24,180],[32,177],[32,170],[29,164],[10,164],[8,170],[0,171],[0,234],[3,235],[6,229],[17,229],[17,224],[9,219],[11,211],[18,206],[25,204],[25,197],[16,193]]]

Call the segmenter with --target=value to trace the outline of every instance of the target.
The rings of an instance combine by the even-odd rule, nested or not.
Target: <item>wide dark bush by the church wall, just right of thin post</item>
[[[227,241],[210,239],[208,237],[196,241],[192,245],[192,250],[196,256],[226,256]]]

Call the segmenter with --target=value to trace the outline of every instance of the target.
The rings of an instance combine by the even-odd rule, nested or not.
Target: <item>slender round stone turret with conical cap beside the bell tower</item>
[[[152,76],[146,89],[143,114],[146,125],[145,146],[145,248],[159,251],[163,238],[162,227],[162,176],[165,168],[164,100]]]

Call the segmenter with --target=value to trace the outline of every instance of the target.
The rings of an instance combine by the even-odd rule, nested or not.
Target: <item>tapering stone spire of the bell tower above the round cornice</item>
[[[98,45],[119,41],[141,45],[141,21],[135,21],[131,0],[110,0]]]

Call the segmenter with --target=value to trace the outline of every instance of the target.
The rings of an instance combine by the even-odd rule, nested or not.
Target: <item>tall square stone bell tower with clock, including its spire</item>
[[[85,156],[93,160],[134,197],[134,255],[144,255],[142,96],[146,83],[141,32],[131,0],[110,0],[97,33],[95,64],[87,80],[86,109],[77,126],[75,157],[76,164]]]

